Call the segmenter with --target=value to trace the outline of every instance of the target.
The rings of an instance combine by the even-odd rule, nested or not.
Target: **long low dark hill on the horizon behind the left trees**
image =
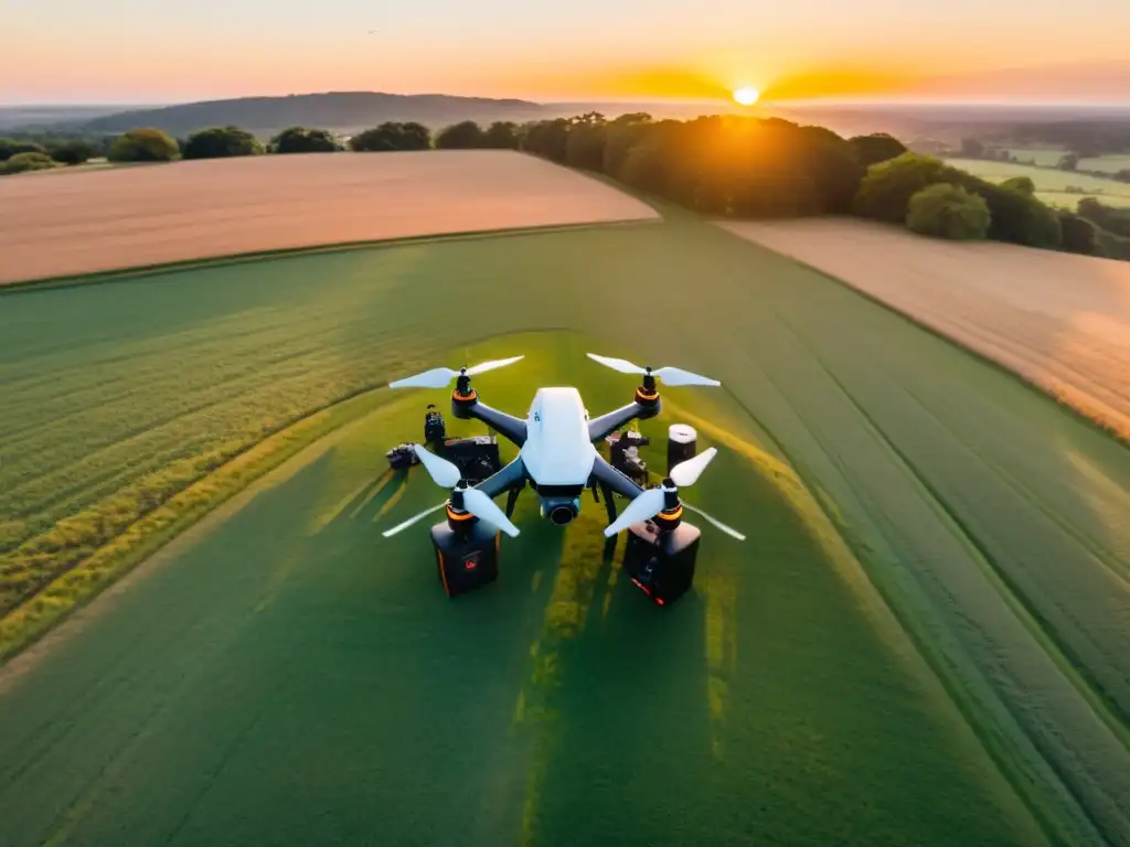
[[[384,121],[417,121],[433,129],[459,121],[536,121],[546,107],[520,99],[455,97],[444,94],[383,94],[329,91],[286,97],[240,97],[144,108],[85,121],[87,132],[123,132],[134,126],[156,126],[183,136],[207,126],[235,124],[260,136],[287,126],[320,126],[356,132]]]

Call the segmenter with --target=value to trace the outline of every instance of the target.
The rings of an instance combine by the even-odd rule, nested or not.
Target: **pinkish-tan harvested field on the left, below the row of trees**
[[[0,285],[235,253],[655,218],[501,150],[311,154],[0,181]]]

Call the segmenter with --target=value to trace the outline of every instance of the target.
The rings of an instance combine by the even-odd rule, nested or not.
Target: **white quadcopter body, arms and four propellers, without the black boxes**
[[[440,388],[450,385],[452,378],[458,377],[458,386],[452,393],[452,409],[455,416],[486,422],[515,444],[519,453],[514,461],[493,477],[469,487],[461,479],[457,465],[429,453],[418,444],[414,445],[416,455],[432,479],[444,488],[451,488],[452,497],[446,504],[440,504],[388,530],[384,535],[400,532],[444,505],[447,506],[449,517],[458,517],[460,514],[466,517],[466,513],[469,512],[507,535],[518,535],[519,530],[511,523],[510,514],[518,492],[529,482],[537,491],[541,515],[558,525],[568,524],[577,516],[581,510],[581,495],[586,487],[591,487],[596,492],[599,486],[605,491],[606,506],[609,509],[610,523],[605,530],[608,536],[615,535],[633,523],[657,516],[666,516],[664,519],[673,526],[678,522],[681,507],[686,506],[728,534],[744,539],[740,533],[678,499],[677,486],[689,486],[698,479],[718,453],[713,447],[672,468],[663,484],[651,489],[636,486],[606,462],[596,448],[597,443],[629,421],[651,418],[659,413],[655,377],[662,378],[669,385],[720,385],[721,383],[679,368],[667,367],[653,372],[651,368],[641,368],[624,359],[610,359],[593,353],[589,353],[589,357],[620,373],[643,374],[643,384],[636,390],[635,401],[596,420],[590,420],[581,393],[567,386],[539,388],[530,403],[525,420],[480,402],[477,393],[470,387],[470,377],[473,374],[511,365],[520,360],[521,356],[487,361],[461,370],[433,368],[390,383],[390,387]],[[493,499],[504,491],[510,492],[505,513]],[[619,517],[615,516],[611,506],[610,498],[614,492],[631,500]]]

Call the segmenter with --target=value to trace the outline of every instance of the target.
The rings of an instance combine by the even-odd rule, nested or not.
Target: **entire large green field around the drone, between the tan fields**
[[[1130,841],[1130,453],[837,282],[672,213],[0,302],[11,645],[313,442],[9,662],[2,844]],[[443,395],[379,386],[524,352],[489,402],[625,402],[593,349],[723,381],[645,428],[721,448],[685,494],[749,540],[660,611],[601,507],[525,500],[447,601],[426,523],[380,535],[443,498],[383,474]]]

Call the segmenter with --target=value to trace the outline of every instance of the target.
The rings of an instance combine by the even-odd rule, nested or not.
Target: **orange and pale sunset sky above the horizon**
[[[12,2],[0,103],[713,99],[738,87],[777,101],[1130,102],[1128,32],[1130,0]]]

